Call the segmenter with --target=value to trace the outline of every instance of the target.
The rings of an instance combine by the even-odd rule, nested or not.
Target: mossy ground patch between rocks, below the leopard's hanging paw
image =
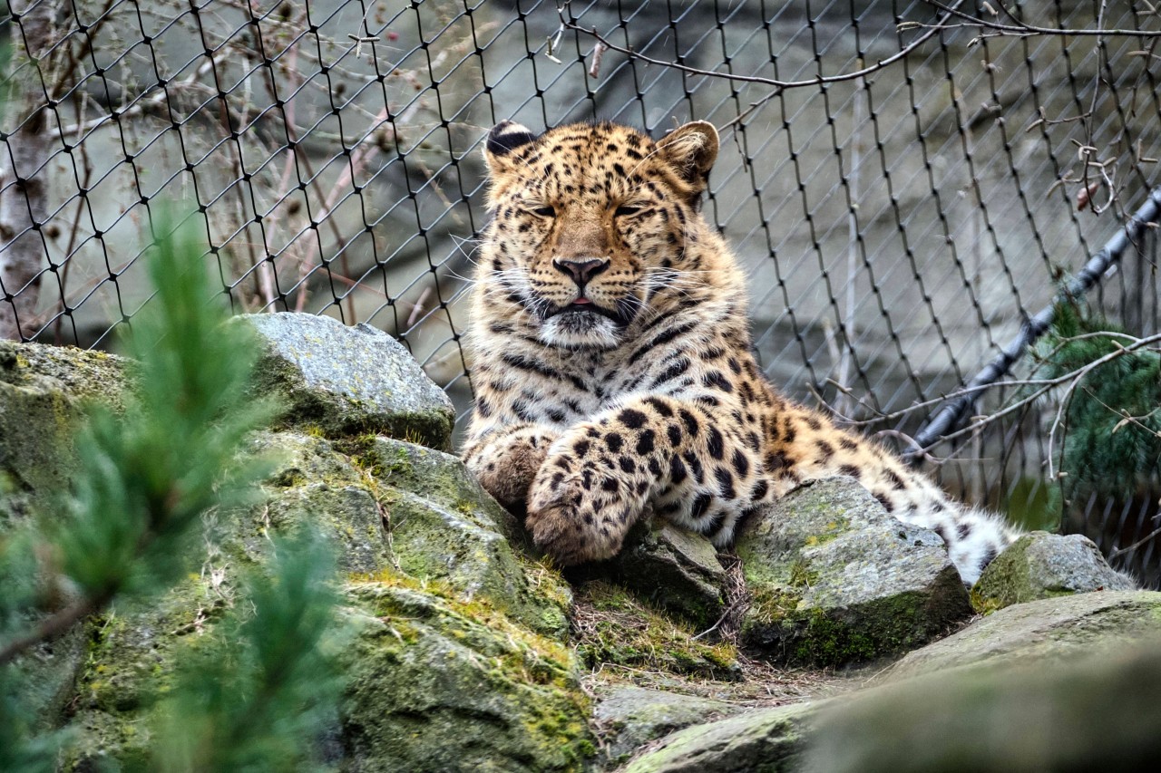
[[[577,653],[591,669],[604,664],[737,679],[737,649],[694,640],[697,631],[625,590],[590,581],[577,590],[574,611]]]

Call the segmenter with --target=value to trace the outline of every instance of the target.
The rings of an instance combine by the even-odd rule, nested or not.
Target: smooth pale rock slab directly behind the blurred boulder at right
[[[1161,593],[1109,591],[1017,604],[947,638],[916,650],[892,678],[940,672],[975,663],[1030,663],[1053,667],[1096,649],[1161,634]]]

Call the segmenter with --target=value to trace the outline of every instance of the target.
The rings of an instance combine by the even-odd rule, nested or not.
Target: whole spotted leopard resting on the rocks
[[[747,277],[702,214],[720,142],[705,121],[656,140],[610,122],[488,132],[464,464],[561,566],[615,556],[642,518],[728,549],[770,503],[849,476],[973,584],[1019,530],[759,369]]]

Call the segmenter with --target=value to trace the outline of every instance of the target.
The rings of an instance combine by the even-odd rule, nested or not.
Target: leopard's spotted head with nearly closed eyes
[[[540,136],[498,124],[484,150],[493,218],[482,281],[543,344],[615,348],[686,268],[717,147],[704,121],[657,142],[612,123]]]

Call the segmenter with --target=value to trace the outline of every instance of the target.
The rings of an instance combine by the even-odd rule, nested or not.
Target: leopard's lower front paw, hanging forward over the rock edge
[[[576,471],[565,472],[557,458],[546,460],[528,491],[525,523],[533,542],[564,566],[615,556],[641,514],[641,498],[591,462],[570,462]]]

